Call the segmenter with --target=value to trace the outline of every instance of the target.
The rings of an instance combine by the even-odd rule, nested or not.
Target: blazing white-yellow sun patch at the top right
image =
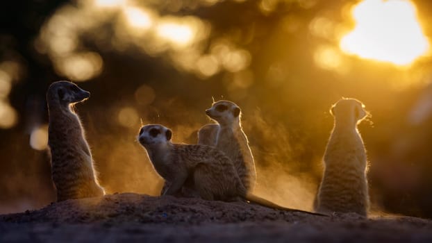
[[[363,0],[351,13],[356,26],[340,40],[345,53],[410,65],[429,49],[410,1]]]

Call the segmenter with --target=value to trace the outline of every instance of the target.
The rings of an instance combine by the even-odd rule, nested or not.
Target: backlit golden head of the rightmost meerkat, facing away
[[[357,99],[342,98],[336,102],[330,109],[331,115],[340,123],[349,123],[356,126],[369,112],[365,110],[365,105]]]

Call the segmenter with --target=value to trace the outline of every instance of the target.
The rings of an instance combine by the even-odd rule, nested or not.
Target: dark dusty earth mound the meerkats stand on
[[[0,242],[432,242],[413,217],[282,212],[242,202],[115,194],[0,215]]]

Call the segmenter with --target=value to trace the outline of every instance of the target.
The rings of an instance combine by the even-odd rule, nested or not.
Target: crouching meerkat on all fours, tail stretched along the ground
[[[165,195],[175,195],[190,179],[194,190],[205,200],[247,199],[269,208],[306,212],[284,208],[247,192],[231,160],[215,147],[174,144],[171,138],[172,131],[159,124],[142,126],[138,135],[138,141],[146,149],[153,168],[169,182]]]

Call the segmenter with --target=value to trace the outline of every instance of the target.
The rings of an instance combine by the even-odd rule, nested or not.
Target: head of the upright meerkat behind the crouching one
[[[206,115],[221,125],[240,124],[240,107],[231,101],[217,101],[206,110]]]

